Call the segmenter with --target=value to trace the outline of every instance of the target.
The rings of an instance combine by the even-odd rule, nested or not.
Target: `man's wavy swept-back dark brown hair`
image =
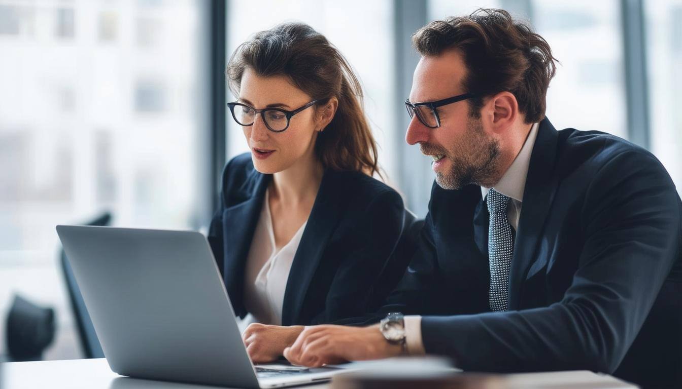
[[[471,116],[480,116],[483,97],[508,91],[527,123],[544,119],[547,89],[558,61],[543,37],[508,12],[479,8],[469,16],[435,20],[417,30],[412,42],[422,56],[452,48],[462,52],[467,68],[464,89],[477,95],[469,100]]]

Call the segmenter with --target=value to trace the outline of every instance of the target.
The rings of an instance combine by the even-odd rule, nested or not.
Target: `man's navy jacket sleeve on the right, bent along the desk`
[[[560,302],[537,309],[423,317],[429,354],[475,371],[591,369],[612,373],[679,257],[677,191],[648,153],[604,164],[581,210],[584,246]]]

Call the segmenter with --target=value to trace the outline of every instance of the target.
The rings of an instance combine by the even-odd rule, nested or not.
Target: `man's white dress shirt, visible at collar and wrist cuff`
[[[537,129],[539,123],[533,124],[531,131],[524,142],[521,151],[511,163],[509,169],[503,174],[500,181],[493,185],[496,191],[509,197],[509,206],[507,206],[507,221],[514,228],[518,228],[518,220],[521,216],[521,203],[523,200],[523,191],[526,187],[526,177],[528,175],[528,167],[531,164],[531,154],[533,153],[533,146],[535,145],[535,138],[537,138]],[[490,188],[481,187],[481,196],[486,198]],[[405,316],[405,343],[407,352],[412,355],[424,354],[424,343],[421,341],[421,316],[409,315]]]

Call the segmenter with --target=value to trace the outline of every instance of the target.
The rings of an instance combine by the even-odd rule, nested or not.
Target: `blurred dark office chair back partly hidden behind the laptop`
[[[106,212],[86,223],[85,225],[108,225],[111,221],[111,214]],[[64,281],[68,288],[69,300],[71,301],[71,308],[74,311],[74,319],[78,326],[78,337],[80,338],[80,347],[83,349],[85,358],[104,358],[104,352],[100,345],[100,340],[95,333],[95,327],[92,325],[90,315],[85,307],[83,296],[80,294],[80,288],[76,283],[74,272],[71,269],[66,253],[61,249],[61,269],[64,274]]]

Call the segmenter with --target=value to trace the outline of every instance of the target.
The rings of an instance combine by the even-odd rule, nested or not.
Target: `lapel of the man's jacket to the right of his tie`
[[[557,174],[554,172],[554,166],[557,158],[558,137],[557,130],[554,129],[552,123],[546,118],[543,119],[537,131],[535,145],[533,145],[514,243],[514,255],[509,270],[510,310],[518,309],[520,306],[521,285],[524,279],[532,276],[528,270],[535,262],[537,243],[542,236],[544,222],[552,205],[554,193],[557,191]],[[547,258],[538,259],[538,261],[546,260]],[[533,266],[533,271],[537,272],[539,268],[542,266]]]

